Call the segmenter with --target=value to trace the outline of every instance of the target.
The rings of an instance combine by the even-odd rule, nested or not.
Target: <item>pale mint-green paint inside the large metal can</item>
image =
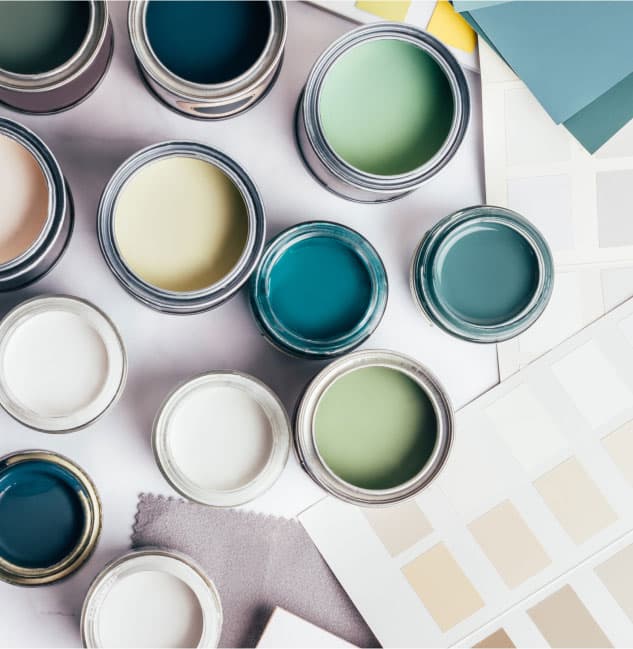
[[[428,162],[446,141],[454,111],[436,61],[392,38],[346,52],[327,72],[319,100],[330,147],[353,167],[381,176]]]

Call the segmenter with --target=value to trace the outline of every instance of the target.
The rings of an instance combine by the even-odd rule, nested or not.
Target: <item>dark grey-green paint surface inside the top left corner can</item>
[[[89,24],[88,2],[0,2],[0,68],[17,74],[53,70],[79,49]]]

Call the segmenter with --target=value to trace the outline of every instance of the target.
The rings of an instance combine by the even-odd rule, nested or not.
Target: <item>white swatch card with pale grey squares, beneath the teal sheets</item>
[[[504,379],[633,295],[633,122],[591,156],[486,43],[479,50],[486,202],[530,219],[556,268],[541,319],[498,345]]]

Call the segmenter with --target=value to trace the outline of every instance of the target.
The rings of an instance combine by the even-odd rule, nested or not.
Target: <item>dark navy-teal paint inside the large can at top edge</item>
[[[151,0],[147,38],[159,61],[200,84],[230,81],[260,57],[271,30],[268,2]]]

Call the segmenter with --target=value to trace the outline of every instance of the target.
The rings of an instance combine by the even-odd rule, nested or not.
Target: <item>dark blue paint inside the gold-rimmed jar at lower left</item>
[[[81,485],[44,460],[0,472],[0,557],[22,568],[53,566],[78,545],[86,525]]]

